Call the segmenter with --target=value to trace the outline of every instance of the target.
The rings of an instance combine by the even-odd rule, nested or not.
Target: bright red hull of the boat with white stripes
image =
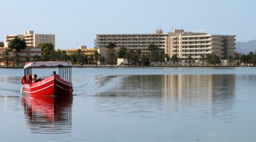
[[[73,95],[73,84],[64,81],[57,75],[53,75],[36,83],[23,84],[22,93],[32,97],[69,96]]]

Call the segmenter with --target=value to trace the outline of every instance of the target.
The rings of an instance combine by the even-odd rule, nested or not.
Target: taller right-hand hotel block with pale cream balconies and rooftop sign
[[[166,36],[165,53],[169,57],[177,54],[179,59],[191,56],[196,60],[206,54],[216,54],[220,59],[228,59],[230,55],[235,57],[235,35],[207,35],[205,30],[172,30]]]

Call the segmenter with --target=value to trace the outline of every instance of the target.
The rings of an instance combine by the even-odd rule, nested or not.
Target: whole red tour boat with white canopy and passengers
[[[52,76],[32,83],[32,69],[46,67],[58,67],[58,73],[53,71]],[[24,76],[21,77],[21,93],[32,97],[73,95],[71,70],[72,64],[66,61],[27,62],[24,66]]]

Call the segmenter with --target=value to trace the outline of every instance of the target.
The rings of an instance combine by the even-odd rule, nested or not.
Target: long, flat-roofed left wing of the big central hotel
[[[142,52],[147,52],[150,44],[164,49],[165,37],[168,35],[162,30],[156,30],[155,34],[98,34],[95,42],[99,49],[107,47],[109,42],[114,42],[117,48],[124,45],[127,49],[141,49]]]

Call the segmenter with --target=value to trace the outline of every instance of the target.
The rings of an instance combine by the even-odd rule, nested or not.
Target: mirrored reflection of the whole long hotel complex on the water
[[[159,97],[157,105],[168,110],[192,109],[214,117],[229,116],[235,103],[233,74],[133,75],[116,81],[114,88],[99,95]]]

